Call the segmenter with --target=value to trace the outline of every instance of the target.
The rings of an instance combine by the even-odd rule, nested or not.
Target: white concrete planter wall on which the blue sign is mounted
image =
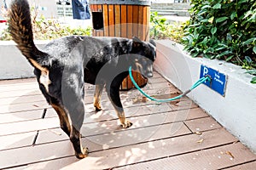
[[[256,152],[256,85],[250,83],[253,76],[224,61],[191,58],[182,45],[169,40],[157,41],[157,50],[155,69],[182,91],[199,79],[201,65],[228,76],[224,97],[201,85],[189,98]]]

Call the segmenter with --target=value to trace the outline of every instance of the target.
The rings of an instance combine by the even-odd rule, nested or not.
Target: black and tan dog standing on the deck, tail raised
[[[70,36],[49,42],[39,50],[33,42],[26,0],[12,2],[9,30],[21,53],[34,67],[39,88],[57,112],[61,129],[69,136],[77,157],[88,154],[88,150],[82,148],[79,132],[84,121],[84,82],[96,85],[96,111],[101,110],[100,98],[106,86],[121,125],[131,126],[125,119],[119,86],[128,76],[130,65],[143,77],[153,76],[154,42],[142,42],[138,38]]]

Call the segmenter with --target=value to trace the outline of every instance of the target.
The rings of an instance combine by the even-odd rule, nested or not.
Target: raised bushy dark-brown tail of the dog
[[[17,47],[32,66],[44,71],[42,65],[47,54],[40,51],[33,41],[32,20],[27,0],[13,0],[9,9],[9,31]]]

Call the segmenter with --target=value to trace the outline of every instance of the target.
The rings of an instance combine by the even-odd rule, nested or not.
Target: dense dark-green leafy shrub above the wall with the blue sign
[[[256,68],[255,0],[191,0],[183,44],[193,57]]]

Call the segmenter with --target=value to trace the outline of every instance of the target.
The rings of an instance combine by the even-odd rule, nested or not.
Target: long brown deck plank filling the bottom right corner
[[[227,151],[229,151],[232,156],[234,156],[234,158],[227,154]],[[241,143],[237,143],[115,169],[222,169],[224,167],[234,166],[236,164],[241,164],[246,161],[252,161],[255,159],[256,156],[253,155],[250,150],[248,150]],[[255,162],[254,165],[256,165]],[[252,166],[253,164],[250,165],[250,167]],[[254,168],[255,167],[249,169],[253,170]],[[245,168],[241,169],[244,170]]]

